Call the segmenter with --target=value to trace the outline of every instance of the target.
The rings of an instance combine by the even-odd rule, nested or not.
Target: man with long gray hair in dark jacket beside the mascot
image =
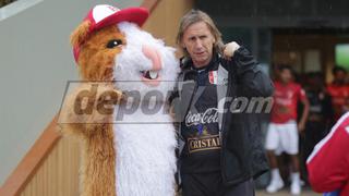
[[[182,112],[183,196],[253,196],[253,179],[268,169],[260,113],[232,112],[229,102],[269,97],[273,84],[244,47],[222,44],[213,20],[202,11],[182,17],[177,42],[184,53],[178,79],[183,85],[174,94],[180,100],[174,112]]]

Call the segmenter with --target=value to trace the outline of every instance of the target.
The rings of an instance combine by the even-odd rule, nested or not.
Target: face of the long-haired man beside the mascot
[[[184,30],[181,45],[192,58],[194,66],[203,68],[212,59],[215,41],[206,23],[197,22]]]

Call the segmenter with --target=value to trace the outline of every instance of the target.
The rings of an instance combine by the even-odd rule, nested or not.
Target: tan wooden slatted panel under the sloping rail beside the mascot
[[[40,163],[21,196],[77,196],[80,148],[62,137]]]

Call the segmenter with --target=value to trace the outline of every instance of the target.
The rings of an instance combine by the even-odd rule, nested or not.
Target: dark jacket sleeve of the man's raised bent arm
[[[262,71],[251,52],[240,47],[230,62],[241,94],[246,97],[268,97],[273,95],[274,86],[269,76]]]

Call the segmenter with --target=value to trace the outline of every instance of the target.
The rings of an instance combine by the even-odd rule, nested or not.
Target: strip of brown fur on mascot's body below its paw
[[[82,196],[116,196],[116,150],[112,124],[88,126],[82,145]]]

